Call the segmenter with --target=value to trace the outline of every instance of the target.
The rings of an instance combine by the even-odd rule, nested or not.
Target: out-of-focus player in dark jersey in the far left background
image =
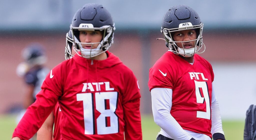
[[[17,116],[16,122],[20,121],[26,109],[35,102],[36,94],[41,90],[43,81],[49,72],[44,66],[47,58],[40,44],[34,43],[22,51],[24,62],[17,66],[16,73],[24,78],[26,92],[24,94],[23,110]]]

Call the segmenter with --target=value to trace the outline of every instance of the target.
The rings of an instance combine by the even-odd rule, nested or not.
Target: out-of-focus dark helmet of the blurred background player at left
[[[45,51],[40,44],[31,44],[22,52],[23,59],[29,65],[42,65],[46,62]]]

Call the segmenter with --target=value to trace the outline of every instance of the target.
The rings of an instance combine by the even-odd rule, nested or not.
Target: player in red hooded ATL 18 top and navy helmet
[[[99,4],[86,4],[70,25],[76,55],[47,75],[13,139],[28,139],[58,102],[62,139],[142,139],[140,91],[133,72],[113,53],[114,22]]]

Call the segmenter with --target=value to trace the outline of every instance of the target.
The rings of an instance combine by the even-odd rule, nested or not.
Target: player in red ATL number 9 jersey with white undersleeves
[[[163,17],[169,50],[150,68],[148,82],[154,121],[161,127],[157,139],[225,139],[212,66],[196,54],[205,50],[203,25],[186,5],[169,8]]]

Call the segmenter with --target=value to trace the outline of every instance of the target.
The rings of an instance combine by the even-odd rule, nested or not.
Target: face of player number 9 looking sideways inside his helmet
[[[173,34],[174,41],[189,41],[196,39],[196,31],[195,30],[183,30],[183,31],[177,31]],[[179,48],[183,48],[182,44],[184,46],[184,49],[190,49],[195,47],[195,40],[189,41],[189,42],[176,42],[177,46]]]

